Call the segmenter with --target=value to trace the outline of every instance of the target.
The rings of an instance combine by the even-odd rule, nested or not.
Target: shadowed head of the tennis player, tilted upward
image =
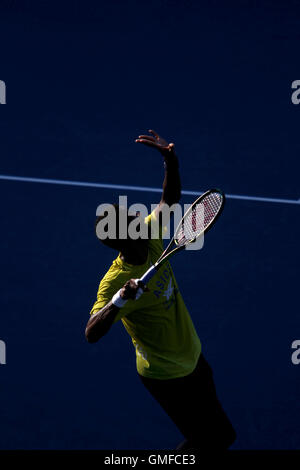
[[[108,215],[110,214],[111,217],[115,220],[115,225],[110,225],[110,220]],[[128,227],[130,223],[138,217],[139,213],[135,215],[129,215],[128,210],[124,207],[120,207],[118,204],[111,204],[110,210],[104,211],[104,213],[96,218],[95,221],[95,231],[97,238],[105,245],[110,248],[114,248],[115,250],[122,251],[126,246],[132,244],[133,242],[137,242],[140,240],[138,239],[131,239],[130,233],[128,231]],[[126,234],[126,238],[120,238],[120,221],[121,223],[124,221],[126,224],[125,227],[122,227],[121,232]],[[102,235],[105,232],[107,235],[104,238]]]

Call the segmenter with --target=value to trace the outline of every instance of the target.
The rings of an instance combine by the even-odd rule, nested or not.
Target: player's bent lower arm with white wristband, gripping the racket
[[[141,283],[136,284],[135,279],[130,279],[108,304],[90,317],[85,329],[85,337],[89,343],[96,343],[109,331],[121,308],[118,305],[128,299],[136,299],[137,294],[141,294],[140,289],[149,290]]]

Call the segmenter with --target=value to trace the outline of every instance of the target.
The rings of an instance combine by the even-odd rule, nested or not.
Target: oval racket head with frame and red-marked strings
[[[174,242],[178,247],[185,247],[204,235],[220,217],[225,204],[225,194],[214,188],[203,193],[189,207],[179,222]]]

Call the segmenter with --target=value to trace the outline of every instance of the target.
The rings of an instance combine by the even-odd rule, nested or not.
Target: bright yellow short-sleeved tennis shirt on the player
[[[154,213],[145,219],[147,223]],[[129,279],[138,279],[163,252],[163,241],[150,239],[148,258],[143,265],[122,261],[120,255],[100,282],[91,314],[103,308]],[[147,284],[138,300],[128,300],[115,322],[122,320],[136,350],[139,374],[154,379],[173,379],[190,374],[201,353],[201,343],[179,292],[169,262],[164,263]]]

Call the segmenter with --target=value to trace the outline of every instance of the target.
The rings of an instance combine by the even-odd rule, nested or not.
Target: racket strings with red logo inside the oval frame
[[[178,245],[197,238],[211,224],[222,206],[222,195],[209,193],[186,214],[175,235]]]

